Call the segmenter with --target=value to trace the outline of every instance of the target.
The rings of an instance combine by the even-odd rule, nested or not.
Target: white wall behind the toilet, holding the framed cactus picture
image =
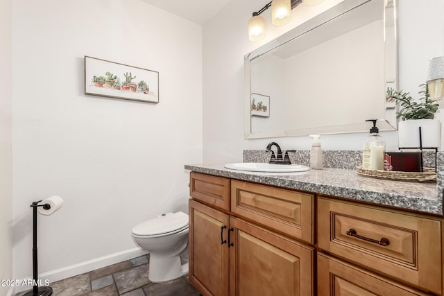
[[[14,277],[31,276],[29,205],[60,195],[62,209],[38,217],[39,271],[58,279],[133,250],[137,223],[187,211],[202,27],[139,0],[16,0],[12,17]],[[85,96],[84,55],[159,71],[160,103]]]

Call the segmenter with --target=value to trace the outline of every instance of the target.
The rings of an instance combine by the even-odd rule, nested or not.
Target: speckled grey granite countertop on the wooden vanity
[[[223,164],[187,164],[185,169],[237,180],[373,202],[400,209],[443,215],[436,183],[379,180],[357,175],[354,169],[323,168],[302,173],[234,171]]]

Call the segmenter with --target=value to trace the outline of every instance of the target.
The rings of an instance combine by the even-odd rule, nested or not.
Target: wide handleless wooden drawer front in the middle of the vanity
[[[314,243],[313,195],[232,180],[231,211],[293,238]]]

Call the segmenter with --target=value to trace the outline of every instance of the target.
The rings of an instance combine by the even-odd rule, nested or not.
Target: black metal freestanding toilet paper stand
[[[39,287],[38,281],[38,268],[37,268],[37,207],[43,207],[43,209],[51,209],[49,204],[38,204],[33,202],[30,207],[33,208],[33,290],[29,290],[24,296],[49,296],[53,293],[53,288],[49,286]]]

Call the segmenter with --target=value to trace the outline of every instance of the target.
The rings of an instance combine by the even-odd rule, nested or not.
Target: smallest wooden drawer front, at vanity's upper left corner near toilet
[[[189,195],[196,200],[230,211],[230,179],[191,172]]]

